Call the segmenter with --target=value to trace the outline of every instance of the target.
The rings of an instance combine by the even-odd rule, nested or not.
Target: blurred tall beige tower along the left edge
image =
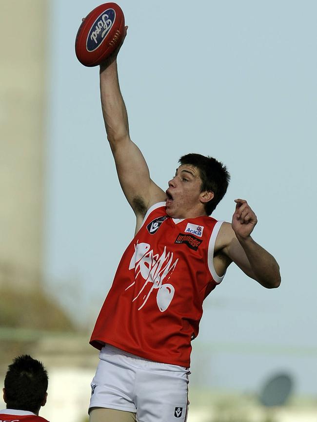
[[[0,288],[40,284],[47,8],[46,0],[1,0]]]

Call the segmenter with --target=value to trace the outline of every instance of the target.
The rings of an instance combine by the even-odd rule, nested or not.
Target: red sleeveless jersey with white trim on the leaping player
[[[151,207],[123,253],[90,344],[189,367],[202,302],[223,278],[213,265],[221,223],[168,217],[165,202]]]

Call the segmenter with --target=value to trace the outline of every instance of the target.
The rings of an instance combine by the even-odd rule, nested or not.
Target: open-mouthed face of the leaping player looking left
[[[168,182],[166,213],[173,218],[195,218],[206,215],[200,201],[202,192],[199,171],[190,164],[179,166]]]

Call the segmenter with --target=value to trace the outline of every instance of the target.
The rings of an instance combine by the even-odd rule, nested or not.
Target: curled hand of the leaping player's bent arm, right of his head
[[[232,217],[232,228],[237,237],[250,236],[258,219],[245,199],[235,199],[236,210]]]

